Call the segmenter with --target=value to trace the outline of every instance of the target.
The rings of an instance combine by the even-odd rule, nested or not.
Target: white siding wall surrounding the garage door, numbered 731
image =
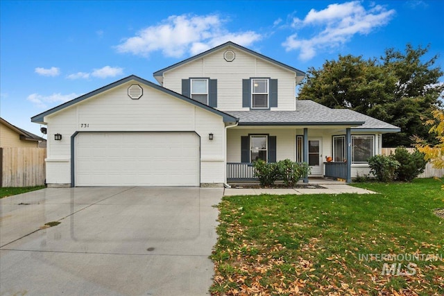
[[[221,116],[146,85],[141,85],[142,98],[132,100],[127,94],[132,84],[140,85],[128,82],[45,117],[48,123],[46,182],[71,183],[71,135],[74,132],[196,131],[200,135],[200,158],[203,159],[200,182],[223,183],[225,125]],[[213,141],[208,139],[210,132],[214,134]],[[54,140],[56,133],[62,134],[61,141]],[[215,166],[221,169],[207,171]]]

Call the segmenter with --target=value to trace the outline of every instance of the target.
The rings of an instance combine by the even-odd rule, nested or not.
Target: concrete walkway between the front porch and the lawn
[[[361,189],[354,186],[350,186],[346,183],[333,181],[333,180],[310,180],[309,184],[303,184],[299,182],[301,186],[305,188],[290,188],[290,189],[248,189],[239,188],[243,185],[238,184],[232,186],[232,188],[225,188],[224,196],[232,195],[284,195],[284,194],[340,194],[340,193],[358,193],[358,194],[372,194],[376,193],[367,189]],[[245,185],[244,185],[245,186]],[[324,188],[316,188],[316,186],[322,186]]]

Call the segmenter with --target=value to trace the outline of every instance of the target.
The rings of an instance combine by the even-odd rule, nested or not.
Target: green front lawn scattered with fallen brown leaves
[[[441,183],[224,197],[213,295],[444,295]],[[398,294],[397,294],[398,293]]]

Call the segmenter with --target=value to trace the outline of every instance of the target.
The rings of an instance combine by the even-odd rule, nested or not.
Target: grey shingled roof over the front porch
[[[229,111],[239,125],[348,125],[354,129],[399,132],[400,128],[373,117],[347,110],[331,109],[310,100],[298,100],[296,111]]]

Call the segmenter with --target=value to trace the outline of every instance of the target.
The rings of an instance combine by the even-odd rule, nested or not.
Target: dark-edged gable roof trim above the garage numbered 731
[[[81,101],[86,100],[87,98],[91,98],[92,96],[96,96],[97,94],[101,94],[109,89],[112,89],[114,87],[118,87],[119,85],[123,85],[124,83],[132,81],[132,80],[137,81],[139,83],[143,83],[144,85],[148,85],[149,87],[153,87],[154,89],[157,89],[160,92],[164,92],[165,94],[169,94],[170,96],[174,96],[176,98],[179,98],[182,101],[187,101],[188,103],[196,105],[197,107],[200,107],[202,109],[213,112],[214,114],[222,116],[223,122],[237,122],[237,118],[234,116],[231,116],[228,113],[216,110],[208,105],[205,105],[205,104],[200,103],[198,101],[194,101],[193,99],[188,98],[187,96],[182,96],[181,94],[178,94],[177,92],[173,92],[170,89],[167,89],[165,87],[161,87],[160,85],[156,85],[151,81],[145,80],[145,79],[140,78],[135,75],[131,75],[131,76],[128,76],[128,77],[123,78],[121,80],[118,80],[116,82],[112,82],[110,85],[106,85],[106,86],[96,89],[92,92],[89,92],[88,94],[84,94],[83,96],[79,96],[78,98],[74,98],[74,100],[68,101],[66,103],[63,103],[62,105],[58,105],[57,107],[53,107],[50,110],[47,110],[47,111],[42,112],[40,114],[37,114],[37,115],[31,117],[31,121],[35,122],[35,123],[44,123],[44,116],[51,115],[54,112],[58,112],[62,109],[70,107],[71,105],[74,105],[76,103],[80,103]]]

